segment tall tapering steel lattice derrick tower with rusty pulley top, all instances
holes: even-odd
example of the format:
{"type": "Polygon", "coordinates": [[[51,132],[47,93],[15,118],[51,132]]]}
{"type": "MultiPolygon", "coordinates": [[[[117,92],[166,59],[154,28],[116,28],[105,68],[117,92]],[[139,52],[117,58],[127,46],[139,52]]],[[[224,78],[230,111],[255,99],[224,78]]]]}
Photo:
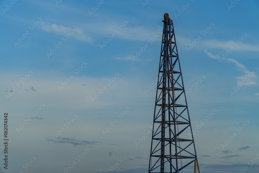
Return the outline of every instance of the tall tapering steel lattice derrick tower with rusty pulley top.
{"type": "Polygon", "coordinates": [[[148,172],[196,172],[197,155],[174,26],[168,13],[164,14],[163,23],[148,172]]]}

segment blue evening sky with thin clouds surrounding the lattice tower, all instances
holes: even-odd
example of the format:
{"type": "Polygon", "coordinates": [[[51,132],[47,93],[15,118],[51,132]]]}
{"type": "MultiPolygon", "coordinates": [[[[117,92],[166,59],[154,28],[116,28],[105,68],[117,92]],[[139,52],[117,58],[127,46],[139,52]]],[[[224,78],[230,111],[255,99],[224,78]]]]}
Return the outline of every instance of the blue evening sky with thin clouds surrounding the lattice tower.
{"type": "Polygon", "coordinates": [[[209,163],[202,172],[259,171],[259,1],[58,2],[0,1],[0,107],[9,114],[9,164],[0,172],[64,172],[73,161],[71,173],[111,172],[117,163],[113,172],[147,172],[151,135],[135,142],[153,123],[156,87],[148,86],[158,75],[164,13],[174,23],[185,90],[193,89],[192,128],[205,123],[194,135],[200,168],[209,163]]]}

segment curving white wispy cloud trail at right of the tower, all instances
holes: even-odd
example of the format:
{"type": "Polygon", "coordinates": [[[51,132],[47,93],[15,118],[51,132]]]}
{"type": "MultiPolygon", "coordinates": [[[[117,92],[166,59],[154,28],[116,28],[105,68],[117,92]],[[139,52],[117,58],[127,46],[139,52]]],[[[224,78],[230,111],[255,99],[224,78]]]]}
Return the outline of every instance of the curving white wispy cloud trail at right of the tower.
{"type": "MultiPolygon", "coordinates": [[[[204,52],[207,54],[208,57],[213,58],[215,60],[218,60],[220,58],[219,55],[212,54],[211,52],[208,52],[207,50],[204,50],[204,52]]],[[[238,84],[242,83],[242,81],[246,81],[246,83],[244,84],[246,86],[258,85],[258,82],[257,82],[258,81],[258,77],[257,77],[257,75],[255,73],[247,70],[246,66],[244,66],[241,63],[239,63],[237,60],[235,60],[233,58],[228,58],[227,61],[233,62],[235,64],[235,66],[237,67],[237,70],[241,71],[243,73],[243,75],[236,77],[236,79],[238,80],[237,81],[238,84]],[[251,74],[254,74],[254,75],[251,75],[251,74]],[[249,80],[248,80],[247,76],[249,77],[249,80]]]]}

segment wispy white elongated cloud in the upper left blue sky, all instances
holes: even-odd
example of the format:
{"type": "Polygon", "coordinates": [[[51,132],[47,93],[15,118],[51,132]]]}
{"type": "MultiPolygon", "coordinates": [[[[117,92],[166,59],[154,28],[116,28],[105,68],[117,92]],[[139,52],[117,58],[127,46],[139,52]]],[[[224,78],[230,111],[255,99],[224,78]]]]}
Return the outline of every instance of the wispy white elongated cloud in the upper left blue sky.
{"type": "Polygon", "coordinates": [[[84,33],[84,31],[79,27],[71,28],[71,27],[67,27],[67,26],[63,26],[63,25],[57,25],[57,24],[47,25],[47,24],[43,23],[41,29],[43,31],[53,32],[53,33],[58,34],[58,35],[68,34],[71,29],[74,29],[75,33],[71,34],[71,37],[73,37],[77,40],[92,43],[91,37],[88,34],[84,33]]]}

